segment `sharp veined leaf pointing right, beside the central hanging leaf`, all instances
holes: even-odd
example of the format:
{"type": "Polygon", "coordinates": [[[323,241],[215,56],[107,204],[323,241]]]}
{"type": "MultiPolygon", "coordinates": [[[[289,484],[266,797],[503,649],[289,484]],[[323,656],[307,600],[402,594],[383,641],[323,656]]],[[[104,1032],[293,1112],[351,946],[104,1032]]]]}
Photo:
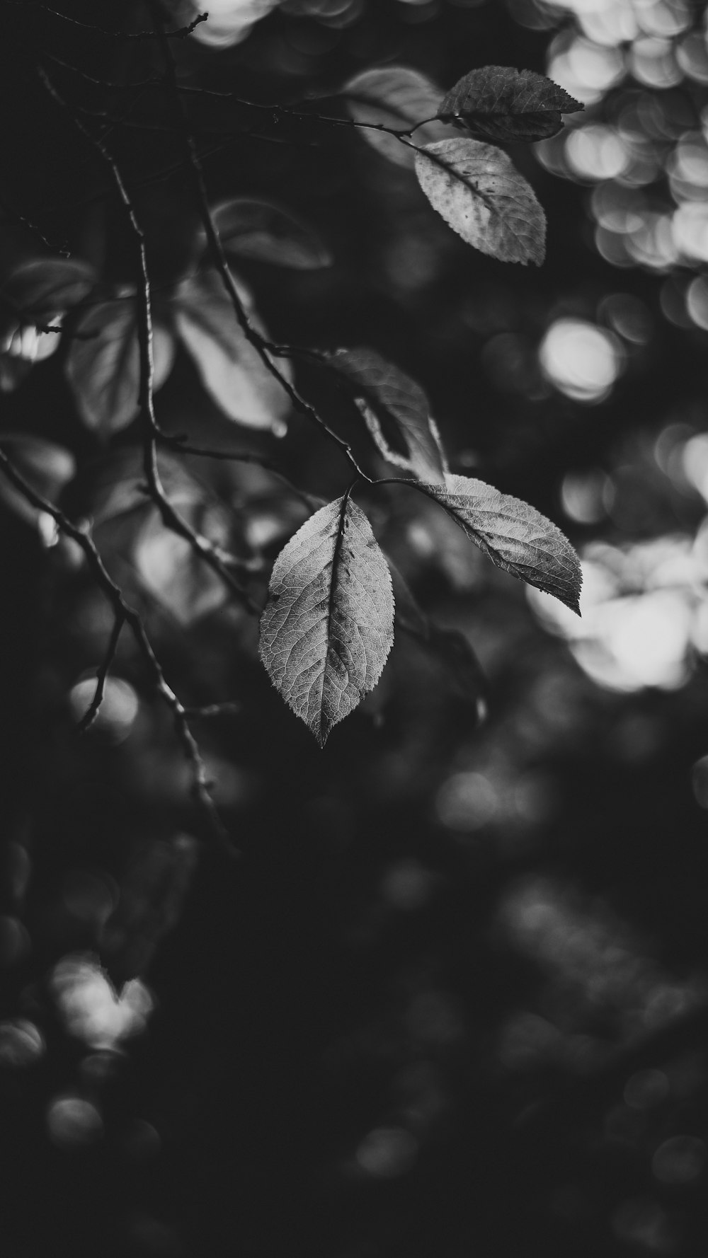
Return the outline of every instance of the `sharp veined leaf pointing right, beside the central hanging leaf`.
{"type": "Polygon", "coordinates": [[[430,493],[493,564],[552,594],[580,615],[578,556],[545,516],[528,502],[465,476],[448,473],[445,489],[430,486],[430,493]]]}

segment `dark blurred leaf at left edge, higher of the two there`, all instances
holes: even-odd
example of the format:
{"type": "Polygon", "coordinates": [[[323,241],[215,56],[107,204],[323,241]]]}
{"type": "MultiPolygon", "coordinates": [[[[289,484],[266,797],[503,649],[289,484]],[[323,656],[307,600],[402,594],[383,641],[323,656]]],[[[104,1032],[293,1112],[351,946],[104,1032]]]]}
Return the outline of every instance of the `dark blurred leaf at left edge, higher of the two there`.
{"type": "Polygon", "coordinates": [[[50,323],[54,316],[78,306],[88,296],[96,276],[86,262],[71,258],[35,258],[23,262],[0,288],[0,308],[10,321],[50,323]]]}

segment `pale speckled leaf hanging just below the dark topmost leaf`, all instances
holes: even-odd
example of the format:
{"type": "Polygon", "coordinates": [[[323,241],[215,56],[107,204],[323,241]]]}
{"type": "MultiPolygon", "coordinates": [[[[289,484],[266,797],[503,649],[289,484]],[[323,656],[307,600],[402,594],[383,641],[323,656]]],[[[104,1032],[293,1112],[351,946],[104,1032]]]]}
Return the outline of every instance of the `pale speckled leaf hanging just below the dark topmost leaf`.
{"type": "Polygon", "coordinates": [[[416,153],[416,174],[433,210],[467,244],[500,262],[540,267],[545,215],[500,148],[477,140],[442,140],[416,153]]]}

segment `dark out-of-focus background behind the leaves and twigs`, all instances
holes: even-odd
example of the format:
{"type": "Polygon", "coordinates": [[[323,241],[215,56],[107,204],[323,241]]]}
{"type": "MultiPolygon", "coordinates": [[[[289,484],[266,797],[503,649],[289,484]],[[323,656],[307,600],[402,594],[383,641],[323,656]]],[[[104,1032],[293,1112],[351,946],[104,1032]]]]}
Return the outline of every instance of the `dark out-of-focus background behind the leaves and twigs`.
{"type": "MultiPolygon", "coordinates": [[[[239,269],[273,337],[370,345],[411,371],[455,470],[532,502],[596,571],[615,572],[624,645],[595,614],[601,595],[588,595],[583,654],[564,620],[552,632],[540,604],[432,508],[360,493],[420,601],[476,649],[489,716],[479,725],[474,696],[399,635],[379,687],[323,752],[270,687],[252,621],[164,538],[159,575],[147,571],[145,521],[107,512],[106,487],[120,501],[137,438],[87,429],[66,345],[0,396],[4,434],[72,452],[62,506],[102,521],[97,542],[183,699],[241,704],[199,727],[242,853],[233,863],[189,801],[169,713],[127,635],[115,665],[123,691],[76,735],[74,687],[100,664],[110,618],[72,546],[43,545],[37,518],[5,503],[0,1184],[11,1258],[705,1253],[708,250],[648,233],[704,203],[708,55],[703,5],[610,10],[625,23],[615,43],[610,28],[605,43],[597,25],[588,34],[592,6],[581,28],[569,4],[532,0],[300,0],[238,43],[193,36],[175,54],[184,83],[297,102],[373,64],[412,65],[447,88],[474,65],[552,73],[576,48],[580,83],[563,86],[582,96],[585,64],[595,99],[572,127],[611,128],[626,160],[617,170],[595,157],[583,174],[563,137],[510,150],[548,216],[540,270],[464,245],[411,172],[354,130],[202,98],[190,108],[212,199],[273,198],[334,254],[325,270],[239,269]],[[602,72],[597,86],[588,47],[601,70],[620,55],[615,82],[602,72]],[[233,130],[207,156],[210,132],[233,130]],[[682,145],[695,150],[690,169],[682,145]],[[610,242],[598,191],[631,201],[634,219],[610,242]],[[617,379],[605,392],[592,365],[580,399],[542,371],[539,346],[559,320],[606,333],[617,379]],[[653,619],[658,589],[669,621],[689,625],[675,658],[670,624],[653,619]],[[72,1015],[67,991],[87,974],[98,985],[72,1015]],[[111,1030],[121,993],[151,1006],[132,1035],[111,1030]]],[[[139,5],[97,14],[67,0],[64,13],[150,29],[139,5]]],[[[190,16],[175,8],[178,23],[190,16]]],[[[106,292],[131,283],[106,171],[35,64],[50,54],[128,83],[159,73],[156,45],[31,4],[1,4],[0,18],[5,273],[54,252],[24,218],[89,260],[106,292]]],[[[178,141],[146,130],[174,122],[169,99],[43,64],[125,174],[159,303],[190,264],[197,224],[178,141]]],[[[317,108],[345,117],[336,99],[317,108]]],[[[306,366],[299,384],[328,404],[306,366]]],[[[321,434],[299,418],[281,442],[234,428],[185,356],[156,403],[165,428],[276,458],[311,493],[346,487],[321,434]]],[[[354,418],[329,404],[372,458],[354,418]]],[[[227,511],[228,545],[262,600],[304,511],[253,469],[190,472],[227,511]]]]}

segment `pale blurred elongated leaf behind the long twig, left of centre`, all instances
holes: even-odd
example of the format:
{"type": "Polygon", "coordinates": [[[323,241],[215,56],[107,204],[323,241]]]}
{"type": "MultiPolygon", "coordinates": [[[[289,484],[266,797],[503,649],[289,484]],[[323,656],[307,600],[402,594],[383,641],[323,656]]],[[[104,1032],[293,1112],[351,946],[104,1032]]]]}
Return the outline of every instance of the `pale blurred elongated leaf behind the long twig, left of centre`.
{"type": "MultiPolygon", "coordinates": [[[[247,308],[248,304],[244,301],[247,308]]],[[[217,406],[246,428],[266,428],[281,437],[290,398],[247,341],[220,276],[205,270],[183,279],[175,291],[173,311],[178,335],[217,406]]],[[[251,309],[248,318],[263,335],[263,326],[251,309]]],[[[292,381],[286,360],[277,361],[277,370],[292,381]]]]}

